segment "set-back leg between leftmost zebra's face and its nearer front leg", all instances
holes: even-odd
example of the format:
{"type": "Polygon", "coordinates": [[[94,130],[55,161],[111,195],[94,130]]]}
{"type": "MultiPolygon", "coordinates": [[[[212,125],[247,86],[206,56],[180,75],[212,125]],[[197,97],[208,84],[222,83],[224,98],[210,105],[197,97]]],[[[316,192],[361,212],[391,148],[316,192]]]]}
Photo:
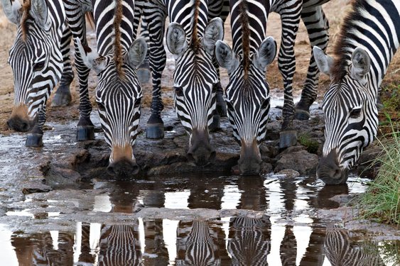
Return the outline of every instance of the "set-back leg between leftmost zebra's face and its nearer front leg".
{"type": "Polygon", "coordinates": [[[64,69],[60,79],[60,85],[55,92],[51,106],[67,106],[71,103],[72,97],[70,92],[70,84],[74,79],[74,72],[70,60],[70,44],[72,33],[69,27],[65,28],[63,38],[61,39],[61,52],[63,53],[64,69]]]}

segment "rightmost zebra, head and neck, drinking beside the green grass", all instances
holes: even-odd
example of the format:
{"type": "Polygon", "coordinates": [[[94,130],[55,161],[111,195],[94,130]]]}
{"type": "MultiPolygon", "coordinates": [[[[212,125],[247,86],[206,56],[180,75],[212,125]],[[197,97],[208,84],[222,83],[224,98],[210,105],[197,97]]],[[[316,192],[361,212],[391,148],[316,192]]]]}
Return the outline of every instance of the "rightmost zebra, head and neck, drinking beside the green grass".
{"type": "Polygon", "coordinates": [[[342,23],[335,58],[313,48],[318,68],[331,79],[323,98],[325,143],[317,167],[325,184],[344,184],[377,135],[378,88],[399,40],[399,1],[356,0],[342,23]]]}

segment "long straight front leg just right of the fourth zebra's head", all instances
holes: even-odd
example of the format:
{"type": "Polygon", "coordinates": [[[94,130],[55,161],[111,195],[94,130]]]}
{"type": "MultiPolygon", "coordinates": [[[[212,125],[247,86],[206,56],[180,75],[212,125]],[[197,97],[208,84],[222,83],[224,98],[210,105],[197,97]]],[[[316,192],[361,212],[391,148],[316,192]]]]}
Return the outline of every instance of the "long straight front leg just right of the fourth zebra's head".
{"type": "Polygon", "coordinates": [[[294,104],[293,104],[293,75],[296,70],[296,58],[294,55],[294,43],[301,17],[302,1],[289,1],[287,6],[279,13],[281,14],[282,38],[281,48],[278,56],[279,71],[283,77],[285,90],[283,104],[283,123],[280,133],[280,148],[286,148],[297,143],[297,133],[291,130],[293,127],[294,104]]]}

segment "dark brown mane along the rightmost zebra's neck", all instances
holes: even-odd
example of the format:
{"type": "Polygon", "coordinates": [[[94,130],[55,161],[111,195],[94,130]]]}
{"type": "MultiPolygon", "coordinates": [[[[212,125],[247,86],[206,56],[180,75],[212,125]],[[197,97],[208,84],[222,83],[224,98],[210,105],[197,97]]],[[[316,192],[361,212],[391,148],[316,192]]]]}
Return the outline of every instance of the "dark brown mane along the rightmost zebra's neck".
{"type": "Polygon", "coordinates": [[[365,0],[353,0],[351,5],[351,11],[347,13],[347,16],[345,16],[345,19],[342,22],[339,38],[333,48],[335,58],[331,75],[333,82],[339,82],[347,73],[346,70],[351,58],[349,48],[352,48],[353,46],[349,35],[352,35],[354,28],[353,22],[362,19],[361,11],[364,9],[365,0]]]}

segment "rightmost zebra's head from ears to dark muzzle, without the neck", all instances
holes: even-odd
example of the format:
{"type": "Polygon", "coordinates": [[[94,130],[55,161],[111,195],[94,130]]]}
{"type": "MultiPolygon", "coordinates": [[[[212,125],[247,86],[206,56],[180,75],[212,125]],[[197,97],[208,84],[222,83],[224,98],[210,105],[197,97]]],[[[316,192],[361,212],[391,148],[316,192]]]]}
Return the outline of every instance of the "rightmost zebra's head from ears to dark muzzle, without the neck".
{"type": "Polygon", "coordinates": [[[377,97],[371,93],[371,60],[367,51],[356,48],[344,73],[333,69],[333,58],[313,48],[318,68],[330,74],[330,88],[323,99],[325,143],[317,176],[326,184],[344,184],[362,150],[377,135],[377,97]]]}

